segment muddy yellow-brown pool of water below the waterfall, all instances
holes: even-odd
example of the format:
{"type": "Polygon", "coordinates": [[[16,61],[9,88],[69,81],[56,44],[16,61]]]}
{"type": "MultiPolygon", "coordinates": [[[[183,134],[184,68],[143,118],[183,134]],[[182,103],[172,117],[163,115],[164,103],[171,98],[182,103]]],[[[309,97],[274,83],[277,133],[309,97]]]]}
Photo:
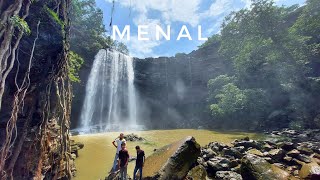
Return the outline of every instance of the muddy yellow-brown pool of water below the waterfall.
{"type": "MultiPolygon", "coordinates": [[[[217,132],[210,130],[175,129],[175,130],[150,130],[131,131],[146,139],[144,142],[128,142],[127,149],[130,156],[136,156],[135,146],[139,145],[149,156],[154,149],[176,142],[187,136],[195,137],[196,141],[204,146],[212,141],[230,144],[234,139],[249,136],[253,139],[261,138],[259,134],[245,132],[217,132]]],[[[79,151],[76,159],[76,180],[104,179],[112,167],[116,148],[111,142],[119,136],[119,132],[73,136],[72,139],[84,143],[84,148],[79,151]]],[[[165,161],[166,159],[163,159],[165,161]]],[[[128,174],[133,175],[135,162],[128,165],[128,174]]],[[[148,172],[146,172],[148,173],[148,172]]]]}

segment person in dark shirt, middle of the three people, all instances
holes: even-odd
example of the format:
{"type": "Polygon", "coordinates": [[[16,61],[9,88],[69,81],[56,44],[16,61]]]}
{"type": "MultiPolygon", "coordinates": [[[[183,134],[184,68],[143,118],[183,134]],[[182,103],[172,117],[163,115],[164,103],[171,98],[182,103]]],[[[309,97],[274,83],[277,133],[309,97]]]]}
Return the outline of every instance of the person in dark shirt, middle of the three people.
{"type": "Polygon", "coordinates": [[[126,149],[126,143],[121,144],[121,150],[119,151],[118,167],[120,169],[120,180],[127,179],[127,168],[129,162],[129,152],[126,149]]]}

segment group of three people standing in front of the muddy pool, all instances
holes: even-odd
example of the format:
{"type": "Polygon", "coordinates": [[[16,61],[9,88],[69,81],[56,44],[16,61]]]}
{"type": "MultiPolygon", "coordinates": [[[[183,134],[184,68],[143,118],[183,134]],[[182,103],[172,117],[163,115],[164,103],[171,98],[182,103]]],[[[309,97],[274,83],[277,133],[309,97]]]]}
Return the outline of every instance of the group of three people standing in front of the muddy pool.
{"type": "MultiPolygon", "coordinates": [[[[115,173],[120,170],[120,179],[127,179],[127,168],[129,162],[129,152],[127,150],[126,140],[124,139],[124,134],[121,133],[120,136],[115,139],[112,144],[117,148],[116,155],[114,157],[112,172],[115,173]]],[[[137,172],[140,173],[140,180],[142,179],[142,169],[145,161],[144,151],[140,148],[140,146],[136,146],[137,158],[136,158],[136,166],[133,171],[133,180],[136,179],[137,172]]]]}

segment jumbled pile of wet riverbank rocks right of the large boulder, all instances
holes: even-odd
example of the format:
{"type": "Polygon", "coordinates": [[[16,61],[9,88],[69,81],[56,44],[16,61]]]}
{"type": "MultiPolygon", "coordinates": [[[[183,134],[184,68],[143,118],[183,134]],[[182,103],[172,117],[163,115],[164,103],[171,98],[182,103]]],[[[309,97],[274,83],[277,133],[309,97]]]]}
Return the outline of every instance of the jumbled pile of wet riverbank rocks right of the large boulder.
{"type": "Polygon", "coordinates": [[[228,177],[221,172],[234,172],[243,179],[317,179],[317,136],[320,130],[284,129],[266,133],[266,140],[244,138],[230,146],[210,142],[202,147],[197,165],[206,169],[209,179],[228,177]]]}

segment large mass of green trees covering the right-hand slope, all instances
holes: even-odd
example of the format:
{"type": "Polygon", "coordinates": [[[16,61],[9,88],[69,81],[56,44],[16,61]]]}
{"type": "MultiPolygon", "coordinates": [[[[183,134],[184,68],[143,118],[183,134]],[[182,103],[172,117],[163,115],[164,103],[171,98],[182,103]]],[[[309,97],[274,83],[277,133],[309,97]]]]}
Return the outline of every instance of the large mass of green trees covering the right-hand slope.
{"type": "Polygon", "coordinates": [[[301,8],[254,0],[225,18],[221,35],[200,46],[219,43],[220,55],[233,65],[232,74],[208,81],[215,121],[261,123],[281,109],[298,128],[319,113],[319,10],[318,0],[301,8]]]}

